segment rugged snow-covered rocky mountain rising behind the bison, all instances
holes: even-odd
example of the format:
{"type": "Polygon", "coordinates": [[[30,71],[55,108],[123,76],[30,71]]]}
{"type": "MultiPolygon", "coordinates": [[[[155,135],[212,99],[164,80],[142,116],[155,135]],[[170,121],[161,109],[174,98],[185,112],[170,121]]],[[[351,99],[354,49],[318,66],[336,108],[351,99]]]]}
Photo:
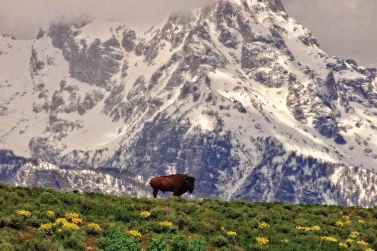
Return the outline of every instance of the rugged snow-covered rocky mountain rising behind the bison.
{"type": "Polygon", "coordinates": [[[376,69],[279,0],[2,34],[0,65],[2,181],[151,196],[188,173],[196,198],[377,205],[376,69]]]}

